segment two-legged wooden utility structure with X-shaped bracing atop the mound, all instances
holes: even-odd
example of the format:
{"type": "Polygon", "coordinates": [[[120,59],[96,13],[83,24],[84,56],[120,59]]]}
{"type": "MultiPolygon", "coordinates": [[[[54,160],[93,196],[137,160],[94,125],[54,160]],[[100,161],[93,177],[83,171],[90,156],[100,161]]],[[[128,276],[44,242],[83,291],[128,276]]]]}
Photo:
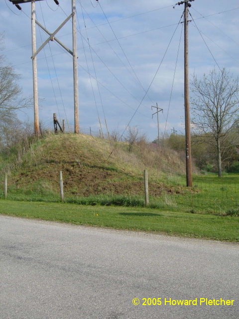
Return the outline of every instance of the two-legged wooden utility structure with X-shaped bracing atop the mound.
{"type": "MultiPolygon", "coordinates": [[[[43,0],[9,0],[12,4],[15,4],[16,7],[21,10],[19,4],[31,2],[31,30],[32,30],[32,72],[33,72],[33,97],[34,97],[34,132],[36,136],[40,135],[39,127],[39,110],[38,110],[38,85],[37,85],[37,54],[44,48],[44,46],[49,42],[55,40],[58,42],[67,52],[73,56],[73,79],[74,79],[74,126],[75,133],[79,134],[79,98],[78,98],[78,67],[77,67],[77,40],[76,40],[76,0],[72,0],[72,12],[71,14],[61,23],[61,25],[54,31],[49,32],[44,26],[42,26],[36,20],[36,9],[35,1],[43,0]],[[72,18],[72,47],[70,50],[66,47],[60,40],[55,37],[55,34],[66,24],[68,20],[72,18]],[[36,24],[42,28],[49,37],[47,40],[36,49],[36,24]]],[[[59,5],[58,0],[54,2],[59,5]]]]}

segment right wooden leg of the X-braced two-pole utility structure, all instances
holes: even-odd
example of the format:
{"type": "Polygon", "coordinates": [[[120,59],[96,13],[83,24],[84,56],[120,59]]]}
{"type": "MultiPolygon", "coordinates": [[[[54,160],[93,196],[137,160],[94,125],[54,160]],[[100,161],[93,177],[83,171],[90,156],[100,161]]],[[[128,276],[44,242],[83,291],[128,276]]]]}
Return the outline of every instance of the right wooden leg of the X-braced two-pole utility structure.
{"type": "Polygon", "coordinates": [[[77,39],[76,39],[76,0],[72,0],[72,35],[73,35],[73,74],[74,74],[74,123],[75,133],[79,134],[79,97],[77,70],[77,39]]]}

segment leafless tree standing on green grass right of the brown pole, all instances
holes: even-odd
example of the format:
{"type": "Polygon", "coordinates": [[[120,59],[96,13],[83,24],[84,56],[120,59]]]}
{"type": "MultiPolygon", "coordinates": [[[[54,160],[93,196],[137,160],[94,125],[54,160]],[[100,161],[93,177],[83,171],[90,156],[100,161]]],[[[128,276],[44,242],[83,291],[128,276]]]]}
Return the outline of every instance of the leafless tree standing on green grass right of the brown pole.
{"type": "Polygon", "coordinates": [[[191,89],[192,123],[199,134],[205,134],[216,147],[218,176],[222,176],[222,141],[238,121],[239,78],[233,78],[224,68],[204,74],[202,79],[193,76],[191,89]]]}

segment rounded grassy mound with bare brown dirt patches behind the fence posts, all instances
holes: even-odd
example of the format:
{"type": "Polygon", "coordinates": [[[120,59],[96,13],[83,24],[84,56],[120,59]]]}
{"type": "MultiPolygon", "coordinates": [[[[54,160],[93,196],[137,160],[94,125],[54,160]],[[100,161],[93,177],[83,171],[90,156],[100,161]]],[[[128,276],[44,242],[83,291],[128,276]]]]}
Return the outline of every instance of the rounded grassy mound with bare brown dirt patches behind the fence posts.
{"type": "Polygon", "coordinates": [[[86,135],[48,135],[8,163],[8,185],[14,193],[50,196],[58,193],[62,170],[68,196],[143,195],[145,168],[151,195],[182,191],[180,186],[163,182],[170,172],[184,173],[184,163],[174,151],[141,141],[129,152],[122,142],[115,145],[86,135]]]}

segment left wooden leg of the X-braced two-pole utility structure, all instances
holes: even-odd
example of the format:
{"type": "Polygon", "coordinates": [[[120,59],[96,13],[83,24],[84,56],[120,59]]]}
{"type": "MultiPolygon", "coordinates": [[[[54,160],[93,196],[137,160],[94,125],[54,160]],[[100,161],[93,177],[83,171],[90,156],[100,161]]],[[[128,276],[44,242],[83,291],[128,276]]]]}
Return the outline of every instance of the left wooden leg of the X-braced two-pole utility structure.
{"type": "MultiPolygon", "coordinates": [[[[36,52],[36,23],[35,23],[35,20],[36,20],[35,0],[32,0],[31,1],[32,56],[36,52]]],[[[34,98],[34,133],[36,136],[39,136],[40,135],[40,128],[39,128],[36,56],[34,58],[32,58],[32,72],[33,72],[33,98],[34,98]]]]}

